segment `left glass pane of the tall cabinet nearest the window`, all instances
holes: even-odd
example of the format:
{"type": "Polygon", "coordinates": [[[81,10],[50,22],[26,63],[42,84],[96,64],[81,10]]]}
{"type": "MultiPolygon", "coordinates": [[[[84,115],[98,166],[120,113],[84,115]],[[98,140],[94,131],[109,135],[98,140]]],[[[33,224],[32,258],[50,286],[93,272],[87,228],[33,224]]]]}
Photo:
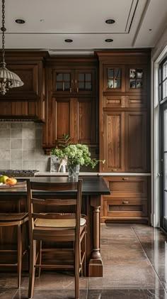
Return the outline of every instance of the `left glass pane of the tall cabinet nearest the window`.
{"type": "Polygon", "coordinates": [[[108,86],[109,89],[121,88],[121,69],[108,68],[108,86]]]}

